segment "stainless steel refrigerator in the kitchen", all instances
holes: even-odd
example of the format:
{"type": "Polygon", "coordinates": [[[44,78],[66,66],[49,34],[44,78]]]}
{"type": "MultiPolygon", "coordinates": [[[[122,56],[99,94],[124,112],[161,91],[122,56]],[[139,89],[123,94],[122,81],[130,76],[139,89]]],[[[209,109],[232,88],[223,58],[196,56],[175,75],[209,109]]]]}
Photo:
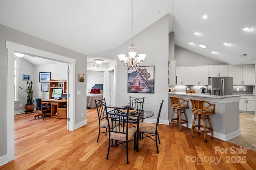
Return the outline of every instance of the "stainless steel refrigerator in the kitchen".
{"type": "Polygon", "coordinates": [[[233,77],[209,77],[207,93],[217,96],[233,94],[233,77]]]}

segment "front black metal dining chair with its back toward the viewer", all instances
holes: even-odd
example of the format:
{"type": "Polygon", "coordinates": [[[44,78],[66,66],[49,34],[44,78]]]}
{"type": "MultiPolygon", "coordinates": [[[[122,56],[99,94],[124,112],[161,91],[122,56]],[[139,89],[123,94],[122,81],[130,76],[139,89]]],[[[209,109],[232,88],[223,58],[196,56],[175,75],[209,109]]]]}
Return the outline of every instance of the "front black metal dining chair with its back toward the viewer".
{"type": "Polygon", "coordinates": [[[108,154],[106,159],[108,159],[110,147],[123,145],[126,149],[126,160],[128,160],[128,142],[134,141],[134,149],[136,149],[136,129],[128,127],[129,121],[129,108],[127,111],[121,111],[122,107],[108,107],[105,105],[107,121],[108,121],[108,154]],[[110,127],[110,125],[116,124],[120,126],[110,127]],[[113,143],[114,141],[114,143],[113,143]]]}

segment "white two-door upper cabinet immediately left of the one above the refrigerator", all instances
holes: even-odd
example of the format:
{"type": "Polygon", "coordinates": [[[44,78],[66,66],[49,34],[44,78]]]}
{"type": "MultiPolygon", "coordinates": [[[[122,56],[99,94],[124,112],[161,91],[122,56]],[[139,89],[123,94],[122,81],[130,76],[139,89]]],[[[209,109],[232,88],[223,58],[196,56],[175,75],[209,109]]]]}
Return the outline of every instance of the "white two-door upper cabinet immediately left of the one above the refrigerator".
{"type": "Polygon", "coordinates": [[[190,67],[190,85],[208,85],[208,66],[190,67]]]}

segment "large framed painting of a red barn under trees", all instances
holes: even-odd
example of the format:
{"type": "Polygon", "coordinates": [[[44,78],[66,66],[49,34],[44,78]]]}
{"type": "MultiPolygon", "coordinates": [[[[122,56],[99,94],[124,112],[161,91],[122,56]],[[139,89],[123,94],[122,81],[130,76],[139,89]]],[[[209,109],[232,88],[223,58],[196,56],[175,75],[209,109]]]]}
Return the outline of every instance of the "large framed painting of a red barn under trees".
{"type": "Polygon", "coordinates": [[[128,93],[154,93],[155,66],[128,70],[128,93]]]}

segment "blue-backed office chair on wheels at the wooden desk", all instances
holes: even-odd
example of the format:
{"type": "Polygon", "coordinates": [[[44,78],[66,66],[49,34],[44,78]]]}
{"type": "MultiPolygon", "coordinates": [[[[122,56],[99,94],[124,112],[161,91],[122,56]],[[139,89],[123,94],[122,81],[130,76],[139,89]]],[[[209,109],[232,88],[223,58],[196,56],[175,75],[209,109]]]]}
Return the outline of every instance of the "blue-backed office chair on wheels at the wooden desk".
{"type": "Polygon", "coordinates": [[[42,116],[42,119],[44,119],[45,115],[51,115],[51,113],[46,113],[47,111],[51,110],[50,102],[42,102],[42,99],[40,99],[40,98],[35,98],[34,100],[35,100],[36,110],[41,111],[41,113],[34,115],[34,119],[36,119],[36,117],[39,118],[39,116],[42,116]]]}

